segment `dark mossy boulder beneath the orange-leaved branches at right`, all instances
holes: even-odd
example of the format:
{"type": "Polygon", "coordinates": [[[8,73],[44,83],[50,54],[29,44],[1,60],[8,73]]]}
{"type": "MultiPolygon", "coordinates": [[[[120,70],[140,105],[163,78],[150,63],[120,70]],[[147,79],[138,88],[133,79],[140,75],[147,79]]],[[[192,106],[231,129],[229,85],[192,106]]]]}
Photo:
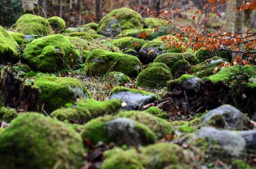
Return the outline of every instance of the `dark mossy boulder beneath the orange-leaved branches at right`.
{"type": "Polygon", "coordinates": [[[227,61],[231,61],[232,55],[229,51],[224,50],[214,50],[212,53],[209,49],[203,50],[202,48],[196,51],[196,57],[199,62],[204,62],[205,60],[211,59],[214,56],[221,57],[222,59],[226,59],[227,61]]]}

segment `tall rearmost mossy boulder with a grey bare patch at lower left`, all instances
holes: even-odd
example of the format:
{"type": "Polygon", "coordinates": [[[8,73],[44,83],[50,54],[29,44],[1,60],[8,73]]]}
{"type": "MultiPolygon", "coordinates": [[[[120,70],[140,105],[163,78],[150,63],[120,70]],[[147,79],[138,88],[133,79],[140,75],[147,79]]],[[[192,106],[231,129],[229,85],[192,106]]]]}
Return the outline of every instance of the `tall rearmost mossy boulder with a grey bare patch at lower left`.
{"type": "Polygon", "coordinates": [[[123,30],[141,30],[143,20],[140,14],[129,8],[115,9],[104,16],[98,24],[97,32],[106,37],[115,37],[123,30]]]}

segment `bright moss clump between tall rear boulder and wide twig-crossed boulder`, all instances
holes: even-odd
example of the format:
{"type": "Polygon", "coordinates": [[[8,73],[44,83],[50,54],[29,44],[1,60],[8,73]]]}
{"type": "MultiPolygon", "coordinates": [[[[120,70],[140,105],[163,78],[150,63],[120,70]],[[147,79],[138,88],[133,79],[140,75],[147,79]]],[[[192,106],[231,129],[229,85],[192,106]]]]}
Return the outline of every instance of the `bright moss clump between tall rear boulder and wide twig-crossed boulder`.
{"type": "Polygon", "coordinates": [[[146,41],[143,39],[133,37],[124,37],[120,39],[111,40],[111,43],[121,50],[133,49],[139,51],[141,49],[141,46],[145,44],[146,41]]]}

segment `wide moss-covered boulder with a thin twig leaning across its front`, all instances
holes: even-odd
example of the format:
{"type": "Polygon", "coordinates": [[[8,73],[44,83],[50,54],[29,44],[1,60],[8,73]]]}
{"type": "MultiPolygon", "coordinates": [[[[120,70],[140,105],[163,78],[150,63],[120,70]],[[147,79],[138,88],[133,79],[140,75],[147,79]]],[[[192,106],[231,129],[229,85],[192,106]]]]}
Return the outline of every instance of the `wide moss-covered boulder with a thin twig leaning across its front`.
{"type": "Polygon", "coordinates": [[[129,77],[136,76],[141,71],[141,62],[136,56],[93,50],[85,62],[86,74],[100,75],[110,71],[122,72],[129,77]]]}

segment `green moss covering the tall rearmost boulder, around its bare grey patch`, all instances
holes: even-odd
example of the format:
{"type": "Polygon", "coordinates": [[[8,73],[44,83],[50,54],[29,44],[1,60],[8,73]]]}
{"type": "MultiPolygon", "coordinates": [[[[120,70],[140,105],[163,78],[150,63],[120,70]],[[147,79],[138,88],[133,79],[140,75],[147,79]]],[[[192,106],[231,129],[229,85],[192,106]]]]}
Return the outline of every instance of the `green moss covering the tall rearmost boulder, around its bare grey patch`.
{"type": "Polygon", "coordinates": [[[115,9],[111,11],[108,15],[104,16],[102,20],[99,21],[97,32],[105,30],[106,27],[109,25],[109,22],[113,19],[117,20],[118,25],[120,25],[121,31],[129,30],[131,28],[141,30],[143,28],[143,20],[140,14],[129,8],[121,8],[115,9]],[[118,18],[116,18],[116,16],[118,16],[118,18]]]}

